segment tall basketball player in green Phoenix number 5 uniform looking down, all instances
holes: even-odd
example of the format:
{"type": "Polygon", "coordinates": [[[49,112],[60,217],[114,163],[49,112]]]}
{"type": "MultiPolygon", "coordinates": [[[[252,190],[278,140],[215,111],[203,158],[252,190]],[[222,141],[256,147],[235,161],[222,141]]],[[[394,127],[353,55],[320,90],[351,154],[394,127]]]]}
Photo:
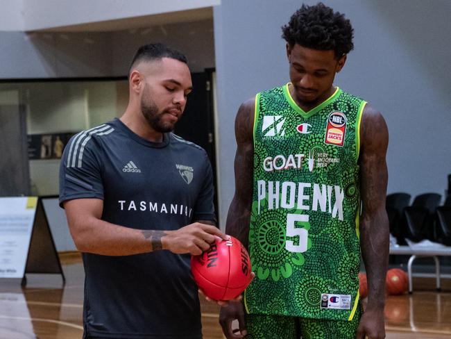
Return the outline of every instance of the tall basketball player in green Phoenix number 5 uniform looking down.
{"type": "Polygon", "coordinates": [[[348,19],[318,3],[282,30],[290,82],[237,113],[226,232],[248,245],[256,276],[243,303],[221,309],[221,326],[227,338],[384,338],[386,124],[334,85],[353,48],[348,19]]]}

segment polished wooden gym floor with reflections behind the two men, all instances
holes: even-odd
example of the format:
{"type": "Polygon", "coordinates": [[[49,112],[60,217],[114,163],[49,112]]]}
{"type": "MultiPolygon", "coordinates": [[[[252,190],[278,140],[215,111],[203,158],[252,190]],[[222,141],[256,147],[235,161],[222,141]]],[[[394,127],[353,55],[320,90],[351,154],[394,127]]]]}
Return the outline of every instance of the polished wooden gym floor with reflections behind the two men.
{"type": "MultiPolygon", "coordinates": [[[[0,339],[80,339],[83,333],[83,265],[78,254],[63,254],[67,283],[56,274],[28,274],[19,283],[0,281],[0,339]]],[[[434,279],[414,279],[414,294],[388,297],[386,338],[451,338],[451,280],[442,279],[442,292],[434,292],[434,279]]],[[[219,307],[201,298],[203,336],[222,339],[219,307]]]]}

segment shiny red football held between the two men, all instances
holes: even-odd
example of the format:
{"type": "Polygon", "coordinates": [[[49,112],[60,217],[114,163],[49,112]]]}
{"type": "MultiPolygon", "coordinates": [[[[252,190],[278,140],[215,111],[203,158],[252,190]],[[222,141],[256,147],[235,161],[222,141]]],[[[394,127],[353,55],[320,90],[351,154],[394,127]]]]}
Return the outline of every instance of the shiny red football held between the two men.
{"type": "Polygon", "coordinates": [[[238,297],[252,280],[248,251],[233,237],[218,238],[208,251],[192,256],[191,272],[198,287],[213,300],[238,297]]]}

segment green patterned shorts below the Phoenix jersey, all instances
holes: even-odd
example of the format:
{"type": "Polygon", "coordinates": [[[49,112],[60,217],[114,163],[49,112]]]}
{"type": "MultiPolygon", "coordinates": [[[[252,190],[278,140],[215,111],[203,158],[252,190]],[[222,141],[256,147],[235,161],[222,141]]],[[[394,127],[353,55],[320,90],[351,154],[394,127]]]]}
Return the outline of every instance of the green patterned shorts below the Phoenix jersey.
{"type": "Polygon", "coordinates": [[[355,339],[360,317],[360,304],[351,321],[248,314],[246,339],[355,339]]]}

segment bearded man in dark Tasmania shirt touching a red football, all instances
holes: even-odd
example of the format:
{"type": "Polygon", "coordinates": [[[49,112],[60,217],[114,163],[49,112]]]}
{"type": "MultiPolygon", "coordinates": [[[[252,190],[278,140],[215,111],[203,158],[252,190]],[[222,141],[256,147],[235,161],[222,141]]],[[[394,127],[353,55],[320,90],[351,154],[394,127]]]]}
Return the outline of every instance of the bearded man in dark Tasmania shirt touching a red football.
{"type": "Polygon", "coordinates": [[[187,60],[140,47],[124,115],[74,135],[60,205],[83,253],[83,338],[201,338],[189,254],[215,236],[213,179],[201,147],[170,133],[192,91],[187,60]]]}

